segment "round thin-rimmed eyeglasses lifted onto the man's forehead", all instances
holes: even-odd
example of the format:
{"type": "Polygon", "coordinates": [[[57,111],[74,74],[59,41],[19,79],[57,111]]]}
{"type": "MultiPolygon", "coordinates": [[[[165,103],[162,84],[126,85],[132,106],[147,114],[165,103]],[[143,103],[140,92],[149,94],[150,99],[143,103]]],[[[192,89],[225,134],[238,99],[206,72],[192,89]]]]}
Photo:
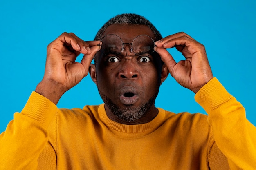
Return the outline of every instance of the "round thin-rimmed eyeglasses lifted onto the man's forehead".
{"type": "Polygon", "coordinates": [[[101,39],[101,52],[108,56],[114,57],[124,51],[124,45],[131,45],[130,52],[140,57],[147,57],[155,51],[155,41],[148,35],[139,35],[131,43],[124,43],[122,39],[114,34],[109,34],[101,39]]]}

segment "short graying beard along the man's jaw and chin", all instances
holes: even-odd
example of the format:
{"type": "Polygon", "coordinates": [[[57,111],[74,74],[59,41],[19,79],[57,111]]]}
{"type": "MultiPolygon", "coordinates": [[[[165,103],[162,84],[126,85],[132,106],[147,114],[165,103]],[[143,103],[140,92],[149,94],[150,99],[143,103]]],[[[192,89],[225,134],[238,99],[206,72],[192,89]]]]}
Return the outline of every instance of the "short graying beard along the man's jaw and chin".
{"type": "Polygon", "coordinates": [[[120,108],[117,106],[110,98],[106,95],[100,93],[102,100],[108,109],[117,116],[120,120],[131,122],[140,119],[146,112],[150,109],[150,107],[154,104],[157,94],[151,97],[146,103],[141,104],[139,107],[135,106],[126,106],[124,108],[120,108]]]}

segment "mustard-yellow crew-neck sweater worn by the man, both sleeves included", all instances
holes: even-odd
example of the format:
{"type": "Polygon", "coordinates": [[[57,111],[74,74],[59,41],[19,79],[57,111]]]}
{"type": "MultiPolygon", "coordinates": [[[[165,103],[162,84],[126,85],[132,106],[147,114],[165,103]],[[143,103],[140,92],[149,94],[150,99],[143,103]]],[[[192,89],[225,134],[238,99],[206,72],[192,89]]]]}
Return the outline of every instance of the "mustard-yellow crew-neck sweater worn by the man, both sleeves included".
{"type": "Polygon", "coordinates": [[[124,125],[104,104],[58,109],[33,92],[0,135],[0,170],[256,170],[243,106],[216,78],[195,100],[209,116],[158,108],[151,122],[124,125]]]}

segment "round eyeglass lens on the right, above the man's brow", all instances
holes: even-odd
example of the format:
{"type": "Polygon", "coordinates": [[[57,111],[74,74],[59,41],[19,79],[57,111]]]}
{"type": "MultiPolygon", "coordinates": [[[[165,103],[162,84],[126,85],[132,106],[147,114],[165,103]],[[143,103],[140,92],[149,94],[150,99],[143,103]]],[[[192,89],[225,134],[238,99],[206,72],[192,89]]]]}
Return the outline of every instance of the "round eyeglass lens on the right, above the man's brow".
{"type": "Polygon", "coordinates": [[[153,54],[155,41],[148,35],[139,35],[132,41],[132,51],[141,57],[153,54]]]}

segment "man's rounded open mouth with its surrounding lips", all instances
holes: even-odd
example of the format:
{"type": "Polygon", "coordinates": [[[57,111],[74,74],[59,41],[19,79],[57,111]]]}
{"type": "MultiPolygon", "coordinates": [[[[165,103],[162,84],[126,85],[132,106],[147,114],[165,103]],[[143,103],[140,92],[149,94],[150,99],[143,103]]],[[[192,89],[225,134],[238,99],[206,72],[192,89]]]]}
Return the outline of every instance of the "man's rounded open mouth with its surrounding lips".
{"type": "Polygon", "coordinates": [[[132,105],[137,101],[138,98],[139,95],[134,87],[125,86],[121,88],[120,101],[122,104],[132,105]]]}

